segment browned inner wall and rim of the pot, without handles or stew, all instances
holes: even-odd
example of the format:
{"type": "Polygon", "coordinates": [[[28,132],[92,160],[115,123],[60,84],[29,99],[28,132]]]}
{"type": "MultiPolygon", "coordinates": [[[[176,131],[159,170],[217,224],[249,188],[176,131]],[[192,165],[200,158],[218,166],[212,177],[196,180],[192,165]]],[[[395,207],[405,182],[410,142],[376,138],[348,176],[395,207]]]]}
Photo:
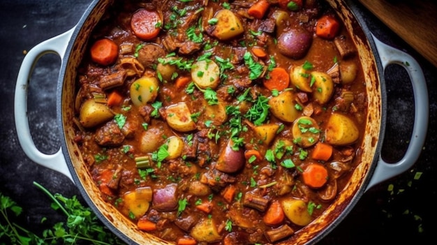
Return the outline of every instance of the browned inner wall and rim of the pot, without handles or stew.
{"type": "MultiPolygon", "coordinates": [[[[311,224],[302,230],[299,235],[294,235],[279,244],[308,244],[317,242],[324,235],[332,230],[341,219],[353,208],[360,198],[373,172],[376,158],[378,158],[378,145],[380,141],[381,121],[383,117],[382,93],[380,87],[380,74],[378,73],[378,62],[376,61],[374,48],[372,48],[370,36],[362,28],[362,23],[358,22],[345,1],[327,0],[336,10],[337,15],[346,25],[353,42],[357,47],[358,55],[362,62],[364,78],[367,90],[368,113],[366,116],[366,129],[364,140],[360,147],[362,151],[362,161],[353,171],[349,183],[341,191],[333,205],[319,216],[311,224]]],[[[136,225],[128,221],[112,205],[101,198],[101,192],[94,184],[93,179],[85,165],[82,155],[75,143],[75,94],[76,94],[76,70],[80,64],[87,41],[91,31],[101,19],[105,10],[112,4],[111,0],[94,1],[87,12],[83,15],[68,45],[66,57],[64,57],[59,78],[58,114],[62,128],[61,135],[62,149],[71,170],[75,184],[80,189],[84,199],[91,209],[93,209],[101,221],[112,230],[117,236],[124,239],[129,244],[168,244],[147,232],[140,232],[136,225]]]]}

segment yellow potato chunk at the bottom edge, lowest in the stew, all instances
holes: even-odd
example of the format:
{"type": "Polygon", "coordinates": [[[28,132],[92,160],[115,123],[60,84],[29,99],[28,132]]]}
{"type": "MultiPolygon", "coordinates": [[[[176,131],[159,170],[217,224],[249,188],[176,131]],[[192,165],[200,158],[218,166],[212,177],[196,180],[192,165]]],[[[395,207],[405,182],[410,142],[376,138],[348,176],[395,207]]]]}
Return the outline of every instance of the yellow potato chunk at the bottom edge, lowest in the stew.
{"type": "Polygon", "coordinates": [[[221,239],[216,223],[212,218],[203,218],[199,223],[196,223],[191,228],[190,235],[198,242],[216,242],[221,239]]]}

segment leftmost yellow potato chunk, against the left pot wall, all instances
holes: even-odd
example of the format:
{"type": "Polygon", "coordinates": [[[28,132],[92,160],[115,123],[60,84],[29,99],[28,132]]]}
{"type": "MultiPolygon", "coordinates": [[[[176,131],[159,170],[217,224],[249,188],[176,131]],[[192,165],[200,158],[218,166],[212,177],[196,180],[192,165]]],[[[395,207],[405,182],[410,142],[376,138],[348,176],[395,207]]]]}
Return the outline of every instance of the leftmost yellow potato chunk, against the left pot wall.
{"type": "Polygon", "coordinates": [[[106,104],[96,103],[94,99],[89,99],[82,104],[79,112],[80,124],[85,128],[91,128],[103,124],[114,117],[114,113],[106,104]]]}

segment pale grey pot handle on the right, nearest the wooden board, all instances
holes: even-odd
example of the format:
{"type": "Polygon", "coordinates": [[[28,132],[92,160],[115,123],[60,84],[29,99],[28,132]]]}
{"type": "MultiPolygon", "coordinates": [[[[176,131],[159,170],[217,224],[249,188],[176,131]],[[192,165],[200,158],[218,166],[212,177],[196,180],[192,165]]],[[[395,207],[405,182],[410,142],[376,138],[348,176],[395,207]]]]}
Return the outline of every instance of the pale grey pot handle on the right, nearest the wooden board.
{"type": "Polygon", "coordinates": [[[375,40],[376,49],[378,50],[384,70],[389,64],[398,64],[403,66],[410,76],[414,95],[415,117],[410,144],[403,158],[397,163],[387,163],[379,156],[378,164],[376,165],[375,172],[373,172],[369,184],[366,186],[366,191],[382,181],[400,175],[414,165],[422,153],[422,147],[427,137],[429,119],[427,83],[420,65],[410,54],[406,54],[401,50],[382,43],[373,35],[372,37],[373,40],[375,40]]]}

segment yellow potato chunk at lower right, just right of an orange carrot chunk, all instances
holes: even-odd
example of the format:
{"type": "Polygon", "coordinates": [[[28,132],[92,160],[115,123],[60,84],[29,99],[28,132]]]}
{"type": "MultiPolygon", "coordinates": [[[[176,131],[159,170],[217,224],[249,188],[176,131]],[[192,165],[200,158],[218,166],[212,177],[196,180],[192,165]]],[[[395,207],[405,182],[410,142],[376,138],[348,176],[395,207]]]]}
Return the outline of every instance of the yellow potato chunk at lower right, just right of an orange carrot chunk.
{"type": "Polygon", "coordinates": [[[287,218],[296,225],[308,225],[312,217],[308,212],[308,207],[303,200],[288,198],[281,201],[281,205],[287,218]]]}

